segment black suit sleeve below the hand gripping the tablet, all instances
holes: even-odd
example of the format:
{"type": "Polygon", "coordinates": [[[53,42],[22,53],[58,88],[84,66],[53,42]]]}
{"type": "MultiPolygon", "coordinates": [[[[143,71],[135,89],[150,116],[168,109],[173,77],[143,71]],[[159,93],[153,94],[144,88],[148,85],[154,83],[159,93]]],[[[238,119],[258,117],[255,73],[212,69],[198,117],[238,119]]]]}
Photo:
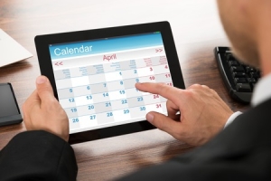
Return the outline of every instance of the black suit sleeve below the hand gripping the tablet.
{"type": "Polygon", "coordinates": [[[16,135],[0,152],[1,180],[76,180],[73,149],[46,131],[16,135]]]}

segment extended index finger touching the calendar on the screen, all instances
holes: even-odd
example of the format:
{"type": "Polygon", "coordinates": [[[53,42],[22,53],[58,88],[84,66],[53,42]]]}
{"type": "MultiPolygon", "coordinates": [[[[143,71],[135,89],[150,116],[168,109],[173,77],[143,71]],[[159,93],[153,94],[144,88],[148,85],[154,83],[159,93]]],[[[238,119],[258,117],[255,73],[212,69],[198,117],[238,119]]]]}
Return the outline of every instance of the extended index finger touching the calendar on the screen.
{"type": "Polygon", "coordinates": [[[177,100],[176,99],[177,95],[178,100],[182,99],[180,96],[182,96],[183,90],[166,85],[164,83],[151,83],[151,82],[135,83],[135,88],[137,90],[146,91],[153,94],[159,94],[168,100],[172,100],[173,102],[177,100]]]}

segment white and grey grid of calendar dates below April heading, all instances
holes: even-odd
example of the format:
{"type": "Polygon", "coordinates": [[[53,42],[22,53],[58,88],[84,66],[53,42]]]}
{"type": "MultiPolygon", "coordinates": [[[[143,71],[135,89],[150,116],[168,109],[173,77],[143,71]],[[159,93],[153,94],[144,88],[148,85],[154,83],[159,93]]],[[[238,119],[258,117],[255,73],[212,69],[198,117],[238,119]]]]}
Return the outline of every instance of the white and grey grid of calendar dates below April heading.
{"type": "Polygon", "coordinates": [[[139,81],[172,85],[166,58],[145,58],[137,64],[140,68],[135,60],[128,60],[56,71],[59,99],[70,130],[145,118],[150,110],[166,113],[166,99],[135,89],[139,81]]]}

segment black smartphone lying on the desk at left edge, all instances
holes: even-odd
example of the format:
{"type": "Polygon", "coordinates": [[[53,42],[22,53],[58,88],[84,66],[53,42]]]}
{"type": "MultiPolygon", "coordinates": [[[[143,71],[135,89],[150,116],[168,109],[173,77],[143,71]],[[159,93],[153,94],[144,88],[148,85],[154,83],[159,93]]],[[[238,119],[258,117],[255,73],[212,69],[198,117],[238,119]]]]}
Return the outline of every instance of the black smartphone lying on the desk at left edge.
{"type": "Polygon", "coordinates": [[[0,126],[23,121],[11,83],[0,83],[0,126]]]}

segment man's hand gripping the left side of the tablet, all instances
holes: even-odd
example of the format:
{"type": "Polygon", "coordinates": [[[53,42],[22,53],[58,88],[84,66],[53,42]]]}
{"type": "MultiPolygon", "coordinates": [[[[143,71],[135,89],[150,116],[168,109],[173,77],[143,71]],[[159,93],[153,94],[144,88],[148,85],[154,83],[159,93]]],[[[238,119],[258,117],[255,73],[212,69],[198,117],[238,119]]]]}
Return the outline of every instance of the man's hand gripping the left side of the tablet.
{"type": "Polygon", "coordinates": [[[27,130],[46,130],[69,139],[69,120],[60,103],[53,96],[50,81],[40,76],[37,89],[23,104],[23,121],[27,130]]]}

